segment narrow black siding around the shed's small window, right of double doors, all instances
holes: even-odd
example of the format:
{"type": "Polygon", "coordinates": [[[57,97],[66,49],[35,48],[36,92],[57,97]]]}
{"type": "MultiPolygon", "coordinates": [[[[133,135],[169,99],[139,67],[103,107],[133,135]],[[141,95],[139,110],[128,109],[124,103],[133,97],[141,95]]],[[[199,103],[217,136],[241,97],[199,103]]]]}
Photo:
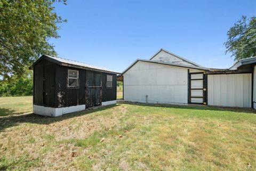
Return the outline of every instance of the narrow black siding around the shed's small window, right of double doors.
{"type": "Polygon", "coordinates": [[[102,72],[102,102],[116,100],[116,75],[102,72]],[[113,76],[112,87],[107,87],[107,75],[113,76]]]}

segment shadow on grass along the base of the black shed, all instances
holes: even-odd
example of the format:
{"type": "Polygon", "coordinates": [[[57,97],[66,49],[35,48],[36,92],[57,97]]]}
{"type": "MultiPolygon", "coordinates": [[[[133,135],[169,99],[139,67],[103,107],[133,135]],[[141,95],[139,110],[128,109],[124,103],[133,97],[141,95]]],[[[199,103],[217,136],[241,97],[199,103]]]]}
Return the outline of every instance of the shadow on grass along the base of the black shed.
{"type": "MultiPolygon", "coordinates": [[[[66,115],[62,115],[59,117],[47,117],[47,116],[36,115],[34,113],[29,113],[26,115],[6,116],[6,117],[0,118],[0,132],[2,132],[6,128],[17,126],[20,123],[48,125],[48,124],[55,123],[55,122],[58,122],[61,120],[75,118],[75,117],[79,117],[79,116],[83,116],[83,115],[88,115],[93,112],[110,109],[110,108],[116,107],[117,105],[119,105],[119,104],[109,105],[107,107],[100,107],[98,109],[93,109],[93,110],[83,110],[83,111],[74,112],[74,113],[67,113],[66,115]]],[[[13,112],[13,111],[10,110],[9,112],[13,112]]]]}

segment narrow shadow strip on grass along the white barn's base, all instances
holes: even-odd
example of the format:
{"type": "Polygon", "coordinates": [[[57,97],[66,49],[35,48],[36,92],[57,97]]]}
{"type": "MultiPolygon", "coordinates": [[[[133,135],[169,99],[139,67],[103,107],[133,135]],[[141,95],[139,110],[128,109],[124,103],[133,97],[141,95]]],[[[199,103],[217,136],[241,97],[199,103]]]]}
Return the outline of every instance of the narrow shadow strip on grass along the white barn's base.
{"type": "Polygon", "coordinates": [[[137,102],[118,102],[119,104],[131,104],[131,105],[140,105],[145,107],[162,107],[162,108],[175,108],[175,109],[193,109],[193,110],[213,110],[213,111],[231,111],[238,113],[254,113],[256,110],[253,108],[238,108],[238,107],[216,107],[210,105],[201,105],[201,104],[188,104],[188,105],[177,105],[177,104],[150,104],[150,103],[137,103],[137,102]]]}

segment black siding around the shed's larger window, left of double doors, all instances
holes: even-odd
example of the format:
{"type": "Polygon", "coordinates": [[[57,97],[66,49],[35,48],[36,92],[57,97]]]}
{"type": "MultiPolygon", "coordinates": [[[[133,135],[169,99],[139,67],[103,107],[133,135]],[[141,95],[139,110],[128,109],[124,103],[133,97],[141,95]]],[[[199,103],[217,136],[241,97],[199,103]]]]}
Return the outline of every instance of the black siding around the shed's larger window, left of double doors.
{"type": "Polygon", "coordinates": [[[55,107],[70,107],[85,104],[85,70],[65,66],[56,67],[56,100],[55,107]],[[78,88],[68,88],[68,69],[78,70],[78,88]]]}

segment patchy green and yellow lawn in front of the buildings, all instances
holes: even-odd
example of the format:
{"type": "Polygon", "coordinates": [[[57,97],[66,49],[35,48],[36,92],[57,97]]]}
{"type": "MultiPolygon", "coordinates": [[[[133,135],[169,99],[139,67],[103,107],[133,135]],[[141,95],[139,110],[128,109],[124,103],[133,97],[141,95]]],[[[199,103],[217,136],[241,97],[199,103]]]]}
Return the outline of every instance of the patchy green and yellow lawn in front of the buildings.
{"type": "Polygon", "coordinates": [[[0,170],[256,170],[252,109],[123,103],[9,115],[0,140],[0,170]]]}

